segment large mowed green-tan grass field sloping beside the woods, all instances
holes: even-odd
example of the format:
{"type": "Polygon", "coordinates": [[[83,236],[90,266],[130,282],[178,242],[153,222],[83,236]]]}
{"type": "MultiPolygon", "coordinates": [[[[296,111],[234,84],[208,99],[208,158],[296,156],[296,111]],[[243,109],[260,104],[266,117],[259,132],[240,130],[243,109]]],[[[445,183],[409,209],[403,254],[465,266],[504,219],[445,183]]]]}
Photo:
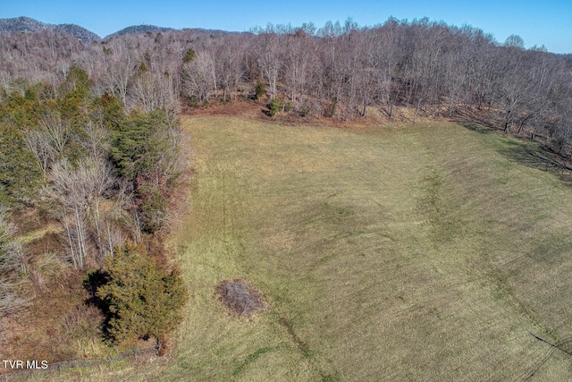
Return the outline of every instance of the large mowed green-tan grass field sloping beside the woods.
{"type": "Polygon", "coordinates": [[[168,363],[104,379],[572,380],[572,187],[533,144],[448,123],[183,123],[185,319],[168,363]],[[214,290],[234,278],[268,309],[229,315],[214,290]]]}

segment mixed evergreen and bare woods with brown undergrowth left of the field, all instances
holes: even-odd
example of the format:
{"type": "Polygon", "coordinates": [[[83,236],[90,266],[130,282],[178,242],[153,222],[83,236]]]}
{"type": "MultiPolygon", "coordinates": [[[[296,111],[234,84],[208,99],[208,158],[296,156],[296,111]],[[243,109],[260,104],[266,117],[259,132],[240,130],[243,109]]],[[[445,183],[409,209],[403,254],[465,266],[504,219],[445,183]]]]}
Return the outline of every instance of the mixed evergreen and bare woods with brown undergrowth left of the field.
{"type": "Polygon", "coordinates": [[[176,111],[127,111],[77,66],[57,86],[10,85],[0,105],[4,358],[105,355],[78,345],[94,335],[160,344],[186,295],[163,242],[185,177],[176,111]]]}

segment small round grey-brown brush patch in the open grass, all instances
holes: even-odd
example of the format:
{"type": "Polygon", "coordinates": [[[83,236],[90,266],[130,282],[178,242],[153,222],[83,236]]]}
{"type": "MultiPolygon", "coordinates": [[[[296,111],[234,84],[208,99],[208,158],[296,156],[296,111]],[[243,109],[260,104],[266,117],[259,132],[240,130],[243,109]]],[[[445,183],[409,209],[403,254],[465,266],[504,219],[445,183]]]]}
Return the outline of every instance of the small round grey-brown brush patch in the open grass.
{"type": "Polygon", "coordinates": [[[216,287],[216,296],[233,315],[250,318],[264,310],[266,302],[262,293],[244,280],[224,280],[216,287]]]}

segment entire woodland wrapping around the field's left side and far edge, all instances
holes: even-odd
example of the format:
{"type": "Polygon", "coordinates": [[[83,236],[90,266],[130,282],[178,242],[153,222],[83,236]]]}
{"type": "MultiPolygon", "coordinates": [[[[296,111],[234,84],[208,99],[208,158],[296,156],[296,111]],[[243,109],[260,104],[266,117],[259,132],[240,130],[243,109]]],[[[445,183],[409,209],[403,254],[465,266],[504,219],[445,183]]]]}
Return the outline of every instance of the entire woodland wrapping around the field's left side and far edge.
{"type": "MultiPolygon", "coordinates": [[[[27,337],[27,346],[61,338],[56,347],[67,350],[42,348],[50,360],[80,356],[68,340],[93,335],[86,322],[99,320],[114,344],[160,339],[174,327],[176,314],[157,315],[185,300],[163,244],[188,171],[183,108],[256,99],[268,115],[308,120],[478,115],[572,157],[570,57],[525,49],[517,36],[498,43],[427,19],[124,32],[87,44],[62,29],[0,34],[0,313],[4,326],[15,325],[8,318],[22,307],[75,296],[80,308],[62,318],[65,330],[27,337]],[[150,299],[143,292],[120,301],[114,283],[129,284],[127,265],[148,281],[135,288],[162,290],[171,302],[141,308],[134,301],[150,299]],[[86,275],[92,305],[78,293],[86,275]],[[64,279],[71,294],[57,287],[64,279]],[[126,324],[123,310],[143,318],[126,324]]],[[[16,343],[6,337],[4,351],[26,349],[16,343]]]]}

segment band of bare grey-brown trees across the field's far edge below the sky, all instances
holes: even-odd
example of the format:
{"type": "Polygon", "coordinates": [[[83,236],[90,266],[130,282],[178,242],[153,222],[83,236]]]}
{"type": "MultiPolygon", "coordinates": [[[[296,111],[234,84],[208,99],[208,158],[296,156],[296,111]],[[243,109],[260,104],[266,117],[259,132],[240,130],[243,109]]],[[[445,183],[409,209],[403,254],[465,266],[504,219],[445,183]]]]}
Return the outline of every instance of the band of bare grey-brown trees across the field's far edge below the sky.
{"type": "Polygon", "coordinates": [[[250,97],[263,84],[269,100],[313,117],[350,120],[377,110],[391,119],[405,106],[415,121],[484,110],[506,132],[572,154],[570,55],[525,49],[514,35],[500,44],[471,26],[426,18],[373,27],[328,21],[319,29],[129,34],[88,46],[44,30],[0,37],[0,52],[4,94],[22,77],[55,85],[72,66],[88,72],[97,96],[146,111],[178,110],[181,97],[193,105],[250,97]]]}

